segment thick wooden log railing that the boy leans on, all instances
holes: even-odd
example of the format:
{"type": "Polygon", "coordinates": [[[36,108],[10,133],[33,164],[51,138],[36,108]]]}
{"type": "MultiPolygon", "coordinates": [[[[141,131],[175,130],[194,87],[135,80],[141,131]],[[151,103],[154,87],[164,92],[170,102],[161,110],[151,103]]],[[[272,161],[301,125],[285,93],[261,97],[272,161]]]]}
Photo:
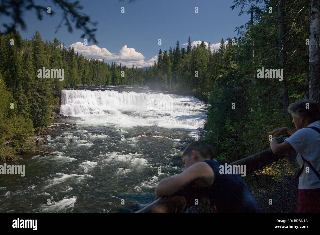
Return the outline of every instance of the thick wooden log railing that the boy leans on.
{"type": "MultiPolygon", "coordinates": [[[[272,150],[269,148],[249,157],[232,162],[230,165],[245,165],[246,174],[250,174],[284,157],[284,155],[277,156],[273,154],[272,150]]],[[[160,198],[136,213],[182,213],[186,211],[187,208],[194,205],[195,198],[200,199],[203,195],[200,187],[195,188],[194,185],[188,185],[178,193],[170,197],[160,198]]]]}

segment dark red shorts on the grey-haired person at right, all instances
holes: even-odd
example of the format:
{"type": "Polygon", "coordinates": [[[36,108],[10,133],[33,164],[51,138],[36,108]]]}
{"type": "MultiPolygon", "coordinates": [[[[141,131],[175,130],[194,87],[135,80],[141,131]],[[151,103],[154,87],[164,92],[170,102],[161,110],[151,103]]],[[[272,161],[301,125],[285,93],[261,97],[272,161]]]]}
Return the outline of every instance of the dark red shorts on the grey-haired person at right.
{"type": "Polygon", "coordinates": [[[299,189],[298,213],[320,213],[320,188],[299,189]]]}

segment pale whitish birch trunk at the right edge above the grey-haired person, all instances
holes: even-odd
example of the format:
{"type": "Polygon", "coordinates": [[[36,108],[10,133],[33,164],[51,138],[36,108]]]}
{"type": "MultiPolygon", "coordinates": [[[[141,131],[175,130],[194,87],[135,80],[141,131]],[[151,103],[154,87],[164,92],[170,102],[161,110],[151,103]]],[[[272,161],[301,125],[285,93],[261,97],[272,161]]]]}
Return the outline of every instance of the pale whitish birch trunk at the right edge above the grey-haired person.
{"type": "Polygon", "coordinates": [[[309,98],[320,105],[320,0],[310,0],[309,98]]]}

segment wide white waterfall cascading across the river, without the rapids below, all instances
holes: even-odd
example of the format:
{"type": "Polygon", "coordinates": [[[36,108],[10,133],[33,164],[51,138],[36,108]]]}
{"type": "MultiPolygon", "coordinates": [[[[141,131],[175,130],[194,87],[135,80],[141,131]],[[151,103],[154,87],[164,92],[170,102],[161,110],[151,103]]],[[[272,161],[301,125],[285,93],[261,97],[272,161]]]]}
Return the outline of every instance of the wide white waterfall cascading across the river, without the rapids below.
{"type": "Polygon", "coordinates": [[[206,118],[193,96],[115,90],[62,90],[60,114],[90,119],[92,125],[196,129],[206,118]]]}

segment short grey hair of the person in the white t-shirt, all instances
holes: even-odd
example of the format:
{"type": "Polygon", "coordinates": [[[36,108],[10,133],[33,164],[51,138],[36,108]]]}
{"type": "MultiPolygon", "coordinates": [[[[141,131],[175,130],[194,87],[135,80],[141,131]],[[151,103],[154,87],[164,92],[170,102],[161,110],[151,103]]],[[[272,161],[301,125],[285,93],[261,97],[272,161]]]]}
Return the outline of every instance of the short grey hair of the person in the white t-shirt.
{"type": "Polygon", "coordinates": [[[309,99],[299,99],[290,104],[288,111],[291,115],[303,115],[307,122],[315,122],[320,120],[320,107],[318,104],[309,99]]]}

